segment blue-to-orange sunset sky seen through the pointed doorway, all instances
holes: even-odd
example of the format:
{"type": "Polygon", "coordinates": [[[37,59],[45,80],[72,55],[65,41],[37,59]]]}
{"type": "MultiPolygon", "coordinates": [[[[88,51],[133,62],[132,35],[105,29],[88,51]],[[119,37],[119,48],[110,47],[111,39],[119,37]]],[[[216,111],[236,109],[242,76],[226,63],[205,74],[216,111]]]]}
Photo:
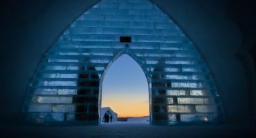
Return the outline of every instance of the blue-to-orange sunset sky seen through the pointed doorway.
{"type": "Polygon", "coordinates": [[[107,71],[102,83],[102,107],[110,107],[118,117],[149,116],[147,79],[129,55],[122,55],[107,71]]]}

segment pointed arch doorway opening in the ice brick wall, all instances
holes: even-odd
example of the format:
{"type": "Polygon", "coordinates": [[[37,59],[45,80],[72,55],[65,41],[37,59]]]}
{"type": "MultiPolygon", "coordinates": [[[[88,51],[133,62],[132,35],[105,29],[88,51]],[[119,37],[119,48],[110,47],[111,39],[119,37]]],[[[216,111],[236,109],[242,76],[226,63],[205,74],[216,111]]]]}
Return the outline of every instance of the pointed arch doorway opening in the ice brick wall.
{"type": "Polygon", "coordinates": [[[100,80],[100,124],[106,123],[104,115],[109,112],[111,123],[149,124],[149,82],[135,59],[128,52],[120,52],[104,72],[100,80]]]}

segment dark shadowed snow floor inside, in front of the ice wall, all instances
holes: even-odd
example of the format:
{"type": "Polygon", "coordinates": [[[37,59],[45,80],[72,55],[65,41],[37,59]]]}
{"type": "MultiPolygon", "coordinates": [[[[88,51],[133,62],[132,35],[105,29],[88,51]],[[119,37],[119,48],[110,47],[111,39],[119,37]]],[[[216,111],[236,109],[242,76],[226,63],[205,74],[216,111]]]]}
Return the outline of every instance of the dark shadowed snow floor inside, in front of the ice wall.
{"type": "Polygon", "coordinates": [[[26,126],[0,124],[1,138],[255,138],[248,126],[231,124],[152,126],[149,124],[105,124],[99,126],[26,126]]]}

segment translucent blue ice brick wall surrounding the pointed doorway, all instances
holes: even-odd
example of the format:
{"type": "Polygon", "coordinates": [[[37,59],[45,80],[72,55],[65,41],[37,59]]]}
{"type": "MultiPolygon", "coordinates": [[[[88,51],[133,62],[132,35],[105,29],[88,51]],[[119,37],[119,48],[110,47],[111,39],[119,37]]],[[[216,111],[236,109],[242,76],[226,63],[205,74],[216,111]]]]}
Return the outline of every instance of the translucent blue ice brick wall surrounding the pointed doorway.
{"type": "Polygon", "coordinates": [[[100,81],[125,53],[149,82],[152,124],[219,121],[221,103],[208,68],[188,37],[148,0],[102,0],[82,14],[35,72],[26,120],[98,124],[100,81]],[[121,36],[131,43],[120,43],[121,36]]]}

